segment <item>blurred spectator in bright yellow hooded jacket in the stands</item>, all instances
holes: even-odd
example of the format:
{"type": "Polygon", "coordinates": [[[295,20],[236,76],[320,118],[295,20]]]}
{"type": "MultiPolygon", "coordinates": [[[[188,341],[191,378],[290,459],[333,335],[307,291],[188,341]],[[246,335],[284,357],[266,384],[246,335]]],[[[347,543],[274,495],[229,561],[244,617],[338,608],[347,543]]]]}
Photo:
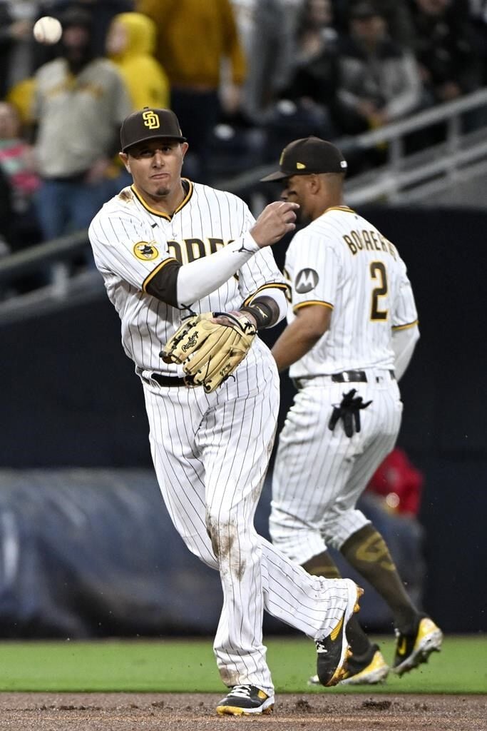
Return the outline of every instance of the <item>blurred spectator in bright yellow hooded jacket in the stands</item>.
{"type": "Polygon", "coordinates": [[[169,107],[169,80],[153,57],[156,23],[140,12],[121,12],[107,33],[107,56],[117,64],[134,110],[169,107]]]}

